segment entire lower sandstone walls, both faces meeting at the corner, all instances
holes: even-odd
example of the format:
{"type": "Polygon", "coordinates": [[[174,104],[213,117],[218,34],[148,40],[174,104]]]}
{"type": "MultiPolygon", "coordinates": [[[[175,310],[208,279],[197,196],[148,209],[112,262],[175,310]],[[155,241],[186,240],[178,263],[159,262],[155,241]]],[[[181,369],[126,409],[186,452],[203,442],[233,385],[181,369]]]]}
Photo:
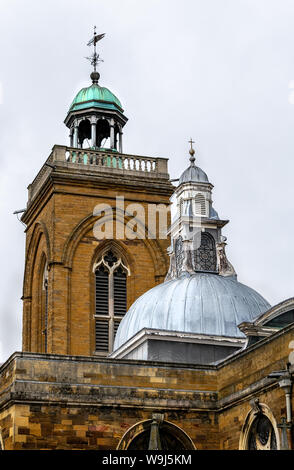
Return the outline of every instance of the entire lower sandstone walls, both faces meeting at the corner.
{"type": "Polygon", "coordinates": [[[268,375],[285,367],[293,333],[286,327],[219,366],[15,353],[0,369],[1,442],[5,449],[142,448],[159,415],[166,445],[233,450],[254,437],[259,448],[291,448],[285,393],[268,375]],[[257,418],[270,429],[258,434],[257,418]]]}

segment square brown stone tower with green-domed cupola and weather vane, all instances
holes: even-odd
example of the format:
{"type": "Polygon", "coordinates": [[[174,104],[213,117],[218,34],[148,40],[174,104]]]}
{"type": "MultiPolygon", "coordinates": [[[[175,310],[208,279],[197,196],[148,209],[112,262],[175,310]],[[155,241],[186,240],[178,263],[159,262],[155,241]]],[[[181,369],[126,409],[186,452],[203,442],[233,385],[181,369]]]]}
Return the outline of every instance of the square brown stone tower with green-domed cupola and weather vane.
{"type": "Polygon", "coordinates": [[[54,145],[28,187],[24,351],[108,355],[127,309],[168,270],[169,241],[147,229],[150,207],[169,208],[167,159],[123,153],[127,118],[96,70],[102,37],[64,121],[69,146],[54,145]]]}

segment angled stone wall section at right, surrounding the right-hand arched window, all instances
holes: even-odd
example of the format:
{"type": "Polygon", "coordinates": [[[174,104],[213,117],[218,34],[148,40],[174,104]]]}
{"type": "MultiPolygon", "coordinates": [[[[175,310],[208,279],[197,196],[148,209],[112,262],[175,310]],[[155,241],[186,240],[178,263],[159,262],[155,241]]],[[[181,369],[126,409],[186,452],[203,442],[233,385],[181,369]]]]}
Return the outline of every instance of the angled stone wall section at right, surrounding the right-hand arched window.
{"type": "Polygon", "coordinates": [[[277,380],[267,376],[286,368],[293,330],[293,325],[289,326],[272,338],[264,339],[238,354],[235,359],[227,359],[220,366],[218,414],[221,449],[239,449],[240,434],[253,398],[258,398],[261,404],[269,407],[276,425],[281,424],[282,418],[286,417],[285,393],[277,380]]]}

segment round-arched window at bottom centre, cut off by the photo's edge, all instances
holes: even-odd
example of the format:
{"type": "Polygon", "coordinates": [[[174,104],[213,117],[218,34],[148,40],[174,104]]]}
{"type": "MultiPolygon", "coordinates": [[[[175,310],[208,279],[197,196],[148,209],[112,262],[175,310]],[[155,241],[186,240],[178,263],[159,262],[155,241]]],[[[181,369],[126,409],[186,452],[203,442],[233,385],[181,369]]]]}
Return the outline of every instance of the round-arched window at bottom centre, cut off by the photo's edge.
{"type": "Polygon", "coordinates": [[[168,421],[149,419],[132,426],[117,450],[196,450],[191,438],[168,421]]]}

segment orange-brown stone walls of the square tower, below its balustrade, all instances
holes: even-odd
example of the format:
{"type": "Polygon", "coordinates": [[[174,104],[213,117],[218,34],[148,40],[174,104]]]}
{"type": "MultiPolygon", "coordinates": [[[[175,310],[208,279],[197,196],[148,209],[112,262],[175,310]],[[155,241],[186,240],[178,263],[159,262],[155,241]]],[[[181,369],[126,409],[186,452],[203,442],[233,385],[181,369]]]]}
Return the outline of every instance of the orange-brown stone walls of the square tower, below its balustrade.
{"type": "MultiPolygon", "coordinates": [[[[61,164],[60,164],[61,165],[61,164]]],[[[131,240],[124,229],[131,217],[116,211],[116,196],[125,207],[140,203],[169,205],[172,185],[166,179],[144,175],[93,175],[89,170],[57,166],[48,174],[30,201],[23,221],[26,231],[26,267],[23,291],[23,350],[45,352],[42,279],[48,264],[47,352],[92,355],[95,352],[93,266],[108,246],[116,250],[130,269],[128,307],[148,289],[164,280],[169,266],[168,239],[155,238],[139,227],[131,240]],[[98,240],[93,215],[97,204],[114,208],[113,240],[98,240]],[[119,239],[117,233],[119,232],[119,239]]],[[[135,214],[134,214],[135,215],[135,214]]],[[[100,217],[104,216],[104,213],[100,217]]],[[[168,221],[169,223],[169,217],[168,221]]],[[[147,225],[147,224],[146,224],[147,225]]]]}

